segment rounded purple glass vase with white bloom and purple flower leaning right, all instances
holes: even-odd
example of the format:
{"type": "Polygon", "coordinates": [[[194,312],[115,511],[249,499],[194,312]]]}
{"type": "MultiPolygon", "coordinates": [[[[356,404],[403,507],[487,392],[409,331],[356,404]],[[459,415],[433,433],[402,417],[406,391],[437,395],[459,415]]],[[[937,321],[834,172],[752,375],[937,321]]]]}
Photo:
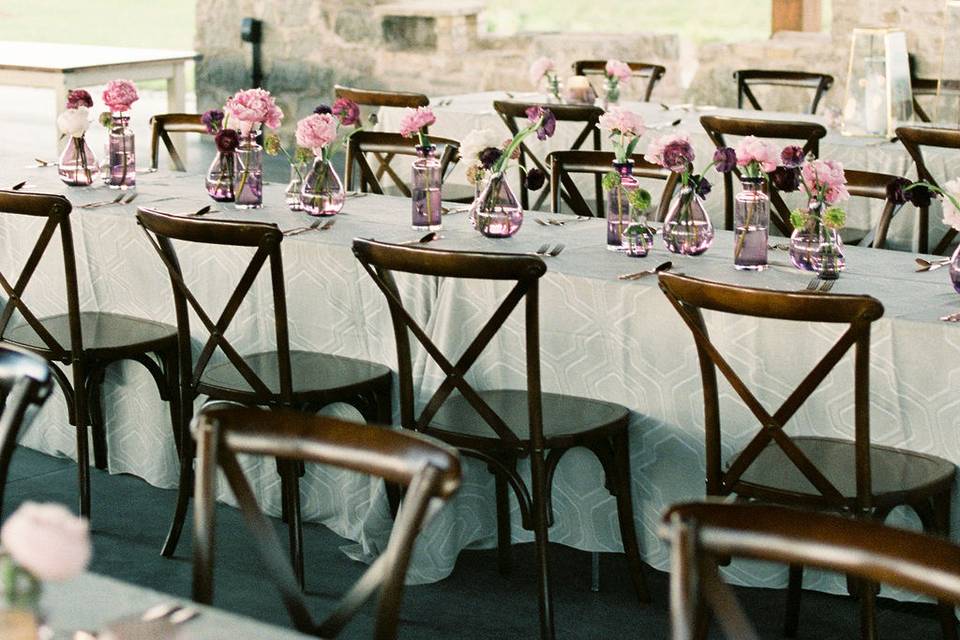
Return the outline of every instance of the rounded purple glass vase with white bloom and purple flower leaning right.
{"type": "MultiPolygon", "coordinates": [[[[487,147],[479,154],[486,180],[480,194],[470,206],[470,222],[489,238],[508,238],[520,230],[523,224],[523,208],[517,202],[506,180],[510,161],[519,158],[520,145],[529,136],[546,140],[557,129],[557,118],[546,107],[534,105],[526,110],[527,126],[517,132],[503,148],[487,147]]],[[[536,191],[546,182],[540,169],[524,171],[524,185],[536,191]]]]}

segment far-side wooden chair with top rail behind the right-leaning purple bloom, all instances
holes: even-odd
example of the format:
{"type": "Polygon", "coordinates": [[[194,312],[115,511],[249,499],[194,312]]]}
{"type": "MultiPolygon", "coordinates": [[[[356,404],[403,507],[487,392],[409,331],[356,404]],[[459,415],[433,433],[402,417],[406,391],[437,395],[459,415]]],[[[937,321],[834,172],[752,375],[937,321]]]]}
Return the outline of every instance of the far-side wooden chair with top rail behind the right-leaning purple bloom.
{"type": "MultiPolygon", "coordinates": [[[[573,144],[570,145],[570,149],[577,150],[581,149],[583,145],[588,141],[593,141],[593,150],[600,151],[602,144],[600,139],[600,129],[597,127],[597,124],[600,122],[600,116],[603,115],[603,109],[600,107],[594,107],[592,105],[571,105],[571,104],[537,104],[537,103],[522,103],[522,102],[508,102],[504,100],[495,100],[493,103],[493,108],[499,114],[500,119],[503,120],[504,124],[507,125],[507,128],[510,130],[510,135],[515,136],[520,132],[522,127],[526,126],[527,121],[527,109],[530,107],[544,107],[553,112],[553,115],[556,116],[557,122],[570,122],[570,123],[581,123],[583,129],[574,139],[573,144]],[[518,121],[521,123],[518,125],[518,121]]],[[[529,138],[528,138],[529,140],[529,138]]],[[[529,164],[533,164],[533,167],[543,171],[544,175],[550,175],[550,168],[547,166],[544,160],[541,160],[537,157],[536,154],[530,151],[530,147],[526,142],[520,144],[520,205],[526,209],[539,209],[543,203],[546,201],[547,197],[550,195],[547,190],[544,190],[540,196],[537,198],[537,201],[530,206],[530,194],[527,189],[526,184],[524,183],[524,171],[530,167],[529,164]]],[[[602,176],[596,176],[594,180],[594,187],[597,193],[598,201],[603,198],[603,185],[601,184],[602,176]]],[[[566,198],[564,198],[566,201],[566,198]]],[[[570,204],[567,202],[567,204],[570,204]]]]}

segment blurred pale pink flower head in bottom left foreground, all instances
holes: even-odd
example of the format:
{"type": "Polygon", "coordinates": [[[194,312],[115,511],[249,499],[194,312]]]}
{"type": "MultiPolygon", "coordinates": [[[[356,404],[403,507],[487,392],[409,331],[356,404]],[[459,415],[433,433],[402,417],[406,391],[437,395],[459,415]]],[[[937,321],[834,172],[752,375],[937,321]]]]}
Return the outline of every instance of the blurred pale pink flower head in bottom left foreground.
{"type": "Polygon", "coordinates": [[[43,582],[74,578],[90,562],[90,527],[59,504],[25,502],[0,529],[14,562],[43,582]]]}

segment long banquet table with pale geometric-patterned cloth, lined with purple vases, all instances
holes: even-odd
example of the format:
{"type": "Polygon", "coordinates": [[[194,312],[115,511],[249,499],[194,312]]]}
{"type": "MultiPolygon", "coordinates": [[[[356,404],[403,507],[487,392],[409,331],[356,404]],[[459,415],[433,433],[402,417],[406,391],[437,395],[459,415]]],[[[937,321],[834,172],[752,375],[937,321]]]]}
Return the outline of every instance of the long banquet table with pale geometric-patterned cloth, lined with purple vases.
{"type": "MultiPolygon", "coordinates": [[[[75,205],[109,198],[105,189],[67,188],[54,169],[26,169],[24,162],[0,161],[8,183],[29,178],[30,191],[64,193],[75,205]]],[[[209,200],[202,177],[157,172],[138,176],[138,199],[129,205],[72,216],[77,247],[80,300],[85,310],[128,313],[173,323],[170,285],[152,248],[137,227],[139,206],[191,212],[209,200]]],[[[283,205],[283,185],[265,187],[263,209],[237,211],[220,206],[211,217],[274,222],[282,229],[302,225],[307,217],[283,205]]],[[[530,218],[511,239],[491,240],[469,228],[464,214],[444,219],[442,239],[431,246],[484,251],[533,251],[545,242],[566,249],[547,258],[548,273],[540,294],[541,360],[545,391],[576,394],[625,404],[633,411],[631,446],[634,501],[641,547],[648,563],[668,566],[668,549],[657,538],[660,514],[671,503],[703,495],[704,454],[702,395],[696,353],[686,327],[653,278],[632,282],[618,274],[672,259],[676,271],[744,286],[797,290],[809,280],[788,265],[782,251],[771,253],[763,273],[743,273],[731,266],[731,235],[719,233],[714,246],[697,258],[668,256],[658,245],[646,259],[606,251],[604,222],[571,219],[565,226],[541,226],[530,218]]],[[[0,270],[19,268],[39,230],[36,220],[0,217],[0,270]]],[[[417,238],[409,226],[407,200],[386,196],[352,197],[329,231],[286,238],[283,257],[294,348],[316,349],[367,358],[395,367],[389,314],[381,294],[355,261],[354,237],[384,241],[417,238]]],[[[217,309],[223,305],[247,256],[238,249],[178,245],[188,282],[217,309]]],[[[915,273],[909,253],[848,248],[848,268],[834,293],[863,293],[880,299],[885,316],[875,324],[871,361],[872,432],[875,442],[934,453],[960,462],[960,327],[940,322],[960,310],[946,269],[915,273]]],[[[261,274],[262,276],[263,274],[261,274]]],[[[54,254],[41,263],[26,301],[40,314],[63,309],[63,274],[54,254]]],[[[499,286],[482,281],[400,280],[415,315],[431,339],[447,350],[465,348],[492,312],[499,286]]],[[[269,280],[261,277],[231,328],[241,352],[272,346],[269,280]]],[[[522,314],[514,314],[473,369],[472,383],[521,386],[524,380],[522,314]]],[[[792,391],[839,335],[838,327],[708,316],[713,338],[731,363],[744,373],[759,398],[776,406],[792,391]]],[[[198,326],[198,325],[194,325],[198,326]]],[[[205,338],[197,334],[197,340],[205,338]]],[[[198,347],[199,348],[199,343],[198,347]]],[[[414,370],[421,401],[441,380],[423,353],[414,370]]],[[[798,412],[788,428],[794,433],[852,437],[852,364],[848,356],[798,412]]],[[[745,444],[755,427],[747,409],[722,388],[725,451],[745,444]]],[[[150,378],[137,365],[108,372],[105,410],[110,445],[110,472],[130,473],[160,487],[176,482],[177,462],[166,407],[150,378]]],[[[340,411],[346,414],[345,410],[340,411]]],[[[75,456],[74,432],[57,394],[38,415],[23,444],[41,451],[75,456]]],[[[272,462],[245,462],[268,512],[279,513],[279,483],[272,462]]],[[[465,482],[452,503],[424,533],[410,569],[414,582],[442,579],[465,548],[495,543],[493,482],[481,464],[467,461],[465,482]]],[[[226,496],[222,496],[226,499],[226,496]]],[[[310,466],[303,484],[304,516],[320,521],[356,541],[346,549],[358,558],[378,552],[389,531],[382,485],[353,474],[310,466]]],[[[586,451],[573,451],[560,464],[553,493],[556,524],[551,539],[583,550],[621,549],[615,503],[603,488],[600,466],[586,451]]],[[[94,494],[93,514],[107,508],[109,496],[94,494]]],[[[907,514],[894,521],[916,525],[907,514]],[[909,522],[908,522],[909,523],[909,522]]],[[[513,537],[530,541],[519,526],[514,505],[513,537]]],[[[960,531],[954,509],[954,530],[960,531]]],[[[159,546],[161,540],[157,539],[159,546]]],[[[309,557],[307,558],[309,567],[309,557]]],[[[309,570],[309,569],[308,569],[309,570]]],[[[736,564],[733,580],[782,583],[782,573],[736,564]]],[[[833,578],[811,575],[807,585],[842,589],[833,578]]]]}

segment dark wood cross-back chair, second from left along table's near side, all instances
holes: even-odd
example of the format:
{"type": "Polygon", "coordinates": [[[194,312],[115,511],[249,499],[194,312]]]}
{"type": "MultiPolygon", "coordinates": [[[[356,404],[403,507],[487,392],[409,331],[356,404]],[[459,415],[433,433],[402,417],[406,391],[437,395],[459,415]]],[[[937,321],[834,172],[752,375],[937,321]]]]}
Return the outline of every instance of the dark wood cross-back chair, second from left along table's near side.
{"type": "MultiPolygon", "coordinates": [[[[137,211],[137,222],[166,266],[173,288],[185,410],[178,423],[183,430],[180,436],[183,442],[191,444],[187,424],[194,400],[201,395],[246,406],[292,407],[313,412],[334,402],[345,402],[356,407],[367,422],[390,422],[390,369],[365,360],[290,349],[280,250],[283,234],[275,224],[184,218],[144,208],[137,211]],[[172,240],[254,250],[249,265],[216,319],[184,281],[172,240]],[[227,330],[265,267],[270,273],[272,289],[275,350],[241,355],[227,339],[227,330]],[[196,361],[191,346],[191,312],[208,335],[196,361]],[[218,348],[226,362],[213,362],[212,357],[218,348]]],[[[181,447],[180,488],[173,523],[163,548],[166,556],[176,551],[186,517],[192,460],[191,447],[181,447]]],[[[302,469],[278,460],[277,471],[281,477],[283,513],[289,524],[294,570],[302,580],[303,531],[299,488],[302,469]]]]}

